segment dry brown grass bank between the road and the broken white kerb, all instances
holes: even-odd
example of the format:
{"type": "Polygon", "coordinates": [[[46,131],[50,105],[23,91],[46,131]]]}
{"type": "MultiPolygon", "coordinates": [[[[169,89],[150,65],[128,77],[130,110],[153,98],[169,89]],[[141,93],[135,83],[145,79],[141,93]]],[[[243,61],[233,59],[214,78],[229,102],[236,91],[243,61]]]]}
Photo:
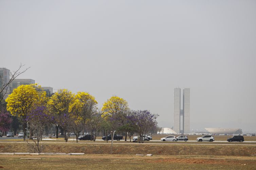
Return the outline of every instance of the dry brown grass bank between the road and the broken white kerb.
{"type": "MultiPolygon", "coordinates": [[[[239,142],[238,142],[239,143],[239,142]]],[[[43,152],[110,154],[111,144],[100,143],[42,143],[43,152]]],[[[28,152],[26,143],[0,143],[0,152],[28,152]]],[[[221,155],[252,156],[256,145],[161,145],[161,144],[114,144],[113,154],[135,155],[221,155]]]]}

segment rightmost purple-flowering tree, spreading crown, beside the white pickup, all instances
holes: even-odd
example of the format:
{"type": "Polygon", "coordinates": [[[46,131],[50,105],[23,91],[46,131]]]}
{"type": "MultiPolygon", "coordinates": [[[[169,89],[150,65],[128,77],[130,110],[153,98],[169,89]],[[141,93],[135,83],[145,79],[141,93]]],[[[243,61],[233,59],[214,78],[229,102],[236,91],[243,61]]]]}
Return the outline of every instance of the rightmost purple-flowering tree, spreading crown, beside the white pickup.
{"type": "Polygon", "coordinates": [[[135,131],[138,133],[140,140],[138,141],[144,143],[142,138],[143,134],[147,134],[150,128],[157,125],[157,117],[159,115],[151,114],[149,111],[132,111],[128,116],[129,122],[135,128],[135,131]]]}

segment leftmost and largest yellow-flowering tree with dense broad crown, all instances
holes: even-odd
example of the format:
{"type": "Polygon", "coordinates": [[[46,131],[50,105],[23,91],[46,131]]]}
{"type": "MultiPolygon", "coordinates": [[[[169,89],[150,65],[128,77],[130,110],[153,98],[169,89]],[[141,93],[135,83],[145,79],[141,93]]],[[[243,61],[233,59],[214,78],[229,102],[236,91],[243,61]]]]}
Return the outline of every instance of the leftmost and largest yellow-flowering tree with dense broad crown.
{"type": "MultiPolygon", "coordinates": [[[[6,110],[13,116],[17,116],[23,123],[23,132],[26,135],[26,118],[28,114],[37,106],[44,105],[47,101],[46,92],[44,92],[40,85],[30,84],[21,85],[13,90],[5,100],[6,110]]],[[[25,135],[23,140],[25,140],[25,135]]]]}

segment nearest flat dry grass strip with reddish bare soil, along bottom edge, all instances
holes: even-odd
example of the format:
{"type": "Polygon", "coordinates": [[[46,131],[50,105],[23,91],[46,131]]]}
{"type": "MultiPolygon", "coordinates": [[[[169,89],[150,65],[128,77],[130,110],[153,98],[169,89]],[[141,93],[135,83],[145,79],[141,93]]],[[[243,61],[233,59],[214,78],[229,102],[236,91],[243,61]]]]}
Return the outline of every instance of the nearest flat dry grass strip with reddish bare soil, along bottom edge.
{"type": "Polygon", "coordinates": [[[10,170],[77,170],[77,169],[255,169],[256,157],[238,156],[134,156],[134,155],[0,155],[0,168],[10,170]],[[41,160],[21,160],[21,158],[41,160]]]}

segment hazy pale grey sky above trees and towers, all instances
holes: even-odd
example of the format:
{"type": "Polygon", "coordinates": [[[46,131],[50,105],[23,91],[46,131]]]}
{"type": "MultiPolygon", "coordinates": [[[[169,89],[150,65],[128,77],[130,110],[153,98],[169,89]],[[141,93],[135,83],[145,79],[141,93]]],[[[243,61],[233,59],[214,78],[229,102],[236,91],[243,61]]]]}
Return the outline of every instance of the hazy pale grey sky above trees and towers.
{"type": "Polygon", "coordinates": [[[173,126],[190,88],[190,127],[256,131],[256,1],[0,0],[0,67],[19,78],[111,96],[173,126]]]}

